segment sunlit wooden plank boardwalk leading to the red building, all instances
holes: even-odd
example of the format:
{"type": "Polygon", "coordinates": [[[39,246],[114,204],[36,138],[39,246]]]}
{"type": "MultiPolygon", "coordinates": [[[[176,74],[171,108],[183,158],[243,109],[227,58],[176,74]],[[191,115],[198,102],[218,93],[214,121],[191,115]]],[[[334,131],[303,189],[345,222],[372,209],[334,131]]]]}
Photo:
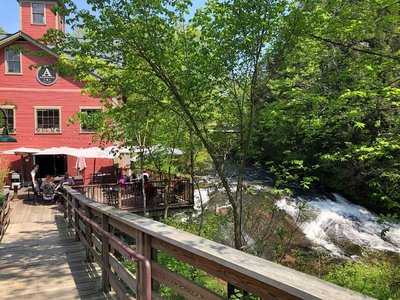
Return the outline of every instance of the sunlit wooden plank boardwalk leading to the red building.
{"type": "Polygon", "coordinates": [[[100,278],[56,205],[12,202],[0,244],[0,299],[108,299],[100,278]]]}

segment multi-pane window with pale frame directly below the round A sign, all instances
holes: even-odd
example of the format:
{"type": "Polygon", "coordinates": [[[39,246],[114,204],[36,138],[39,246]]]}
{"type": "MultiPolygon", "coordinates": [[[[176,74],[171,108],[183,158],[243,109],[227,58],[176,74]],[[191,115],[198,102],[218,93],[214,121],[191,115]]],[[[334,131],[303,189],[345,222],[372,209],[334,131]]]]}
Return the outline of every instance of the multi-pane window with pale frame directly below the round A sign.
{"type": "Polygon", "coordinates": [[[37,133],[59,133],[60,109],[37,108],[36,109],[36,132],[37,133]]]}

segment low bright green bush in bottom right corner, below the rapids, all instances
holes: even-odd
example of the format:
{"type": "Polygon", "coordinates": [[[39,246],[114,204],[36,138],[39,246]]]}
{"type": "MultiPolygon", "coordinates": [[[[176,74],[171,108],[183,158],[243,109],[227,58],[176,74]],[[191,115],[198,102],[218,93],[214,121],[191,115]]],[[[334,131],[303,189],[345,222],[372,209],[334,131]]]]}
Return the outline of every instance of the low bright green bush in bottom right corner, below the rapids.
{"type": "Polygon", "coordinates": [[[347,262],[325,279],[377,299],[400,299],[400,267],[387,262],[347,262]]]}

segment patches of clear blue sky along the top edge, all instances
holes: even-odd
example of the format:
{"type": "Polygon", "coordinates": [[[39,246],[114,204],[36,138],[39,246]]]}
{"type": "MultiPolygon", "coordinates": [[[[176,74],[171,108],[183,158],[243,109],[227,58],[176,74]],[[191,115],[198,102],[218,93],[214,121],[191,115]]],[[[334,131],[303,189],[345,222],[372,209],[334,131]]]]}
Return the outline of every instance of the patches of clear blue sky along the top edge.
{"type": "MultiPolygon", "coordinates": [[[[193,0],[193,11],[204,5],[206,0],[193,0]]],[[[79,8],[87,8],[86,0],[74,0],[79,8]]],[[[17,0],[0,0],[0,27],[7,33],[19,30],[19,15],[17,0]]]]}

